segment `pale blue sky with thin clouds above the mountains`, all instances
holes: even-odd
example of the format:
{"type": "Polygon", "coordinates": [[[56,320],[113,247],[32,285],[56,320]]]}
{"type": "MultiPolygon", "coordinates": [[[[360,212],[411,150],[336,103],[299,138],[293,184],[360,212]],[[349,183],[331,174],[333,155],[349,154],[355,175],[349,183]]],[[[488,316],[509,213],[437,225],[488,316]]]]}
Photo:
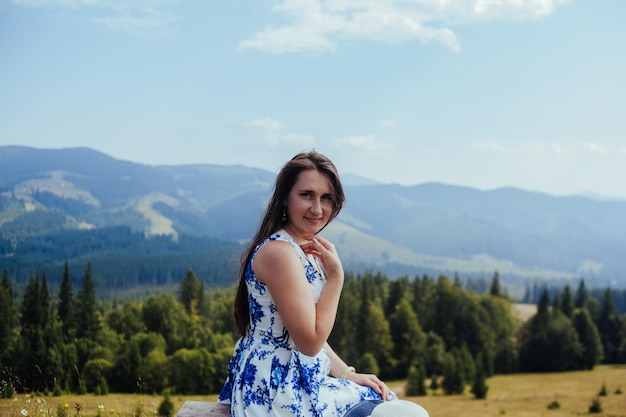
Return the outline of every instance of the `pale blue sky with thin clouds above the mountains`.
{"type": "Polygon", "coordinates": [[[0,145],[626,198],[622,0],[0,0],[0,145]]]}

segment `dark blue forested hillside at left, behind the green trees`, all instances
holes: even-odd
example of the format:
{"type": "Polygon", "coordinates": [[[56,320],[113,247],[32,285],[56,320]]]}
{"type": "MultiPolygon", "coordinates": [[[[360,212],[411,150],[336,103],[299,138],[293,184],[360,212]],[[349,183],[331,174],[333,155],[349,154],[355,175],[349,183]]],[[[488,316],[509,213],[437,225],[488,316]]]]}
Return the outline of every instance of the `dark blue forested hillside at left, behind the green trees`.
{"type": "MultiPolygon", "coordinates": [[[[29,223],[36,227],[36,221],[29,223]]],[[[241,246],[203,236],[145,236],[126,226],[93,230],[60,230],[29,236],[0,257],[0,270],[11,273],[19,288],[36,273],[48,273],[57,287],[64,262],[94,266],[93,280],[101,296],[150,285],[155,289],[178,285],[188,269],[197,271],[205,285],[229,286],[235,279],[241,246]]],[[[74,277],[74,284],[77,284],[74,277]]]]}

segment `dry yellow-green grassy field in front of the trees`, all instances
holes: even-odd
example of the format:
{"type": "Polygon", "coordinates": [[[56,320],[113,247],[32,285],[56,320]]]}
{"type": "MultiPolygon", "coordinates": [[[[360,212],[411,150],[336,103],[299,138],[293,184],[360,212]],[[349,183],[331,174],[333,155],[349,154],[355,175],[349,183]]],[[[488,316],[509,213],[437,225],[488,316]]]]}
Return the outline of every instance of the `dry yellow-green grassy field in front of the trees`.
{"type": "MultiPolygon", "coordinates": [[[[588,372],[559,374],[517,374],[495,376],[488,379],[486,400],[476,400],[469,393],[444,396],[441,393],[426,397],[406,398],[421,404],[431,417],[565,417],[606,416],[626,417],[626,366],[600,366],[588,372]],[[602,387],[606,396],[598,397],[602,387]],[[616,391],[624,391],[619,394],[616,391]],[[589,413],[594,398],[600,400],[602,412],[589,413]],[[550,404],[558,408],[549,409],[550,404]]],[[[390,384],[400,395],[402,383],[390,384]]],[[[68,416],[76,416],[76,404],[81,405],[80,416],[133,417],[156,416],[163,400],[160,396],[120,395],[26,397],[18,395],[13,400],[0,400],[0,416],[21,417],[23,410],[31,417],[57,416],[59,405],[67,405],[68,416]]],[[[175,410],[185,401],[215,401],[215,396],[186,396],[171,398],[175,410]]]]}

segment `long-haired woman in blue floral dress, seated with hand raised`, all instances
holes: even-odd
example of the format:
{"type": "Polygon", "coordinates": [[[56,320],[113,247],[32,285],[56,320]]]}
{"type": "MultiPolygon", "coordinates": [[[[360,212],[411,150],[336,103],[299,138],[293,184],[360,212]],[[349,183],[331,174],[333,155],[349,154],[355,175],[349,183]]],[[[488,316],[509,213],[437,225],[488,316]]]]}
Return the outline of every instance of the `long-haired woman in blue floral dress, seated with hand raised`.
{"type": "Polygon", "coordinates": [[[235,298],[242,337],[219,397],[232,417],[368,416],[384,401],[399,403],[377,376],[356,372],[327,343],[344,273],[334,245],[318,233],[343,202],[337,170],[322,154],[298,154],[279,172],[242,256],[235,298]]]}

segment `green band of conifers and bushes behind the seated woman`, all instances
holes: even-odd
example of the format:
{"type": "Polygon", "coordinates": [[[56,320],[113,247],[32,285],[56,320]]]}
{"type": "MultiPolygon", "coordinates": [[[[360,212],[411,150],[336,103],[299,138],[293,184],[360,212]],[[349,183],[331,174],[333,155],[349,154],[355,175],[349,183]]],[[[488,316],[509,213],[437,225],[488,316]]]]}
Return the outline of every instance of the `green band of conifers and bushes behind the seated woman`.
{"type": "MultiPolygon", "coordinates": [[[[51,294],[44,272],[21,300],[9,273],[0,282],[0,393],[216,393],[236,341],[234,289],[204,287],[189,269],[175,294],[119,302],[96,296],[93,265],[74,289],[67,262],[51,294]]],[[[592,369],[626,363],[626,320],[611,291],[598,301],[584,285],[542,291],[521,322],[494,274],[483,294],[458,277],[395,279],[346,273],[330,344],[362,372],[426,383],[445,394],[486,395],[485,378],[514,372],[592,369]]]]}

